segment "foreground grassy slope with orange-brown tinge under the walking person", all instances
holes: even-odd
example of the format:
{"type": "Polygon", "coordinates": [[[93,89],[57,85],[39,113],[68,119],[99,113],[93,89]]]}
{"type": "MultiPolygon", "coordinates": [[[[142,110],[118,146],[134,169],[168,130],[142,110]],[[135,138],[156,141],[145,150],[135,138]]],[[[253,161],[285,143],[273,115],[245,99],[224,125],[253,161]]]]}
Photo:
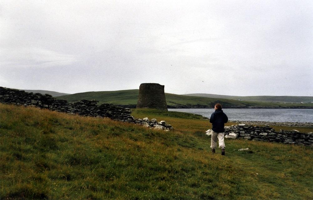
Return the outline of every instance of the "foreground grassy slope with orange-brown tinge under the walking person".
{"type": "Polygon", "coordinates": [[[175,128],[163,132],[14,105],[0,113],[0,199],[313,198],[312,148],[226,140],[226,156],[212,154],[198,115],[134,111],[175,128]]]}

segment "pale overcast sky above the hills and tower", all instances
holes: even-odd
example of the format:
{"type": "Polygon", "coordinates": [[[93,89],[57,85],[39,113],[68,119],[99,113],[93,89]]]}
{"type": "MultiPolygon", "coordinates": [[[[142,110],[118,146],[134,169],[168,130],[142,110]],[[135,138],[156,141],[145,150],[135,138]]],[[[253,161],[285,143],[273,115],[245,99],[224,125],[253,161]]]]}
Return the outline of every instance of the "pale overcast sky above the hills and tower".
{"type": "Polygon", "coordinates": [[[0,86],[313,96],[313,1],[0,1],[0,86]]]}

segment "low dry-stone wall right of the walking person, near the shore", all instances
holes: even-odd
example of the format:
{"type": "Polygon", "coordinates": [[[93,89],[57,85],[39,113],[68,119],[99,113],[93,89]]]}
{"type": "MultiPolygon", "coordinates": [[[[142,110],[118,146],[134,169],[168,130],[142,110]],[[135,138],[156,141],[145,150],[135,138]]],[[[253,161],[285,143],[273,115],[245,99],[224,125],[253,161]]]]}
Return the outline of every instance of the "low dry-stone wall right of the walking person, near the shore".
{"type": "Polygon", "coordinates": [[[300,133],[297,130],[280,130],[266,125],[251,126],[246,124],[238,124],[225,126],[225,138],[248,139],[255,141],[278,142],[285,144],[299,144],[305,146],[313,146],[313,133],[300,133]]]}

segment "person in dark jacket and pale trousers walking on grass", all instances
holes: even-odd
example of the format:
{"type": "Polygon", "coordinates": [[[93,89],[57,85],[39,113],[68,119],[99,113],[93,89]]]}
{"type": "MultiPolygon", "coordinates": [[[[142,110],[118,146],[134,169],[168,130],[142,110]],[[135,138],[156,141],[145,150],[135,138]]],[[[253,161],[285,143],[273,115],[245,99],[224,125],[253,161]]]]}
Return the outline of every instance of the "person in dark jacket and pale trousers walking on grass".
{"type": "Polygon", "coordinates": [[[215,153],[216,142],[218,138],[218,147],[222,148],[222,155],[225,155],[225,143],[224,143],[224,125],[228,122],[227,115],[222,110],[222,105],[215,104],[215,112],[212,113],[210,123],[212,123],[211,134],[211,149],[212,153],[215,153]]]}

